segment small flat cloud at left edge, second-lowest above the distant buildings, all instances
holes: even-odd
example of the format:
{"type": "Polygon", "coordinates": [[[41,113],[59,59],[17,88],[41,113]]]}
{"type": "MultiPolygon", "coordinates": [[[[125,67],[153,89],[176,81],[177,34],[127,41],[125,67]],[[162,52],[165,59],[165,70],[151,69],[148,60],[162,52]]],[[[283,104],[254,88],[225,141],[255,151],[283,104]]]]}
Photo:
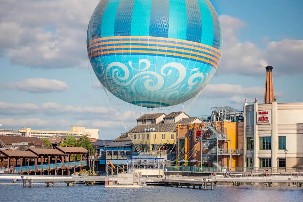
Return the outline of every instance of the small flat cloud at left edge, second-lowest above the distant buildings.
{"type": "Polygon", "coordinates": [[[34,114],[39,110],[39,106],[30,103],[14,104],[0,101],[0,114],[2,115],[21,115],[34,114]]]}

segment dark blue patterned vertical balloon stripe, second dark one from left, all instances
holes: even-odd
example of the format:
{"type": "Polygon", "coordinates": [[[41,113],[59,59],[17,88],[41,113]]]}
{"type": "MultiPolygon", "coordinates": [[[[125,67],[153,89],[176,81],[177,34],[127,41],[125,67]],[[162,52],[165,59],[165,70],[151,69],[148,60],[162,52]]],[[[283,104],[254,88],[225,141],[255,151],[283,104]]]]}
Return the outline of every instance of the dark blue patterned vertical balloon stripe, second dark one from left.
{"type": "Polygon", "coordinates": [[[115,36],[131,35],[132,12],[134,3],[135,0],[119,2],[115,19],[115,36]]]}

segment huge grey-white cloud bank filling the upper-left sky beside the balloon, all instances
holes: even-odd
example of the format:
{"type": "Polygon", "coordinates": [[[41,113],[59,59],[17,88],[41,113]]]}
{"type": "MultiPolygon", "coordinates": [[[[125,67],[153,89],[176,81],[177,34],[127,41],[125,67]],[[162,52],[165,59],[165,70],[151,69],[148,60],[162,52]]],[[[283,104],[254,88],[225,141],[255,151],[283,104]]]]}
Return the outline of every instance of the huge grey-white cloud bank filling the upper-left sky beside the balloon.
{"type": "Polygon", "coordinates": [[[12,64],[30,67],[85,64],[86,30],[97,3],[98,0],[2,1],[0,53],[5,52],[12,64]]]}

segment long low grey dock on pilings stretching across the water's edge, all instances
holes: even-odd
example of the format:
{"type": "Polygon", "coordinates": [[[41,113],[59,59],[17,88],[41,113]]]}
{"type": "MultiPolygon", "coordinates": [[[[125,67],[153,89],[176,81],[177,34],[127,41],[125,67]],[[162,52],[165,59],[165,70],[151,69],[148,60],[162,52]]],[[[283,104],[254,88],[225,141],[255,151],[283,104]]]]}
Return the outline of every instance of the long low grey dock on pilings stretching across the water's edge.
{"type": "MultiPolygon", "coordinates": [[[[66,183],[67,186],[75,185],[76,183],[83,183],[86,185],[105,184],[106,176],[51,176],[51,175],[0,175],[0,179],[11,179],[13,182],[16,180],[23,180],[23,186],[32,186],[33,182],[44,182],[47,186],[54,186],[55,183],[66,183]]],[[[113,176],[116,177],[116,176],[113,176]]],[[[271,186],[272,183],[285,184],[291,186],[291,184],[302,187],[303,173],[274,173],[267,176],[262,174],[255,174],[250,176],[248,174],[235,174],[231,176],[208,176],[208,177],[146,177],[142,178],[146,181],[147,185],[160,185],[160,186],[175,186],[175,187],[188,187],[196,188],[204,187],[204,189],[214,189],[215,185],[220,183],[240,186],[241,184],[265,184],[271,186]]]]}

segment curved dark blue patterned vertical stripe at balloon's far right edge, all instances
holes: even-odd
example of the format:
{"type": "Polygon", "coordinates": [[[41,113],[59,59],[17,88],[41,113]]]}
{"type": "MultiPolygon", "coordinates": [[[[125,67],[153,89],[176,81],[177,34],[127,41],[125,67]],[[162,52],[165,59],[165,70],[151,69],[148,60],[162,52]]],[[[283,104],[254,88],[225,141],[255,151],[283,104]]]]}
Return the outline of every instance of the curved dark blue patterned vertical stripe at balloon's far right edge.
{"type": "Polygon", "coordinates": [[[218,49],[221,51],[222,49],[222,36],[221,36],[221,26],[219,24],[219,18],[215,11],[215,8],[211,5],[211,2],[206,0],[206,3],[208,5],[209,11],[211,12],[211,18],[213,22],[213,41],[212,41],[212,47],[218,49]]]}

